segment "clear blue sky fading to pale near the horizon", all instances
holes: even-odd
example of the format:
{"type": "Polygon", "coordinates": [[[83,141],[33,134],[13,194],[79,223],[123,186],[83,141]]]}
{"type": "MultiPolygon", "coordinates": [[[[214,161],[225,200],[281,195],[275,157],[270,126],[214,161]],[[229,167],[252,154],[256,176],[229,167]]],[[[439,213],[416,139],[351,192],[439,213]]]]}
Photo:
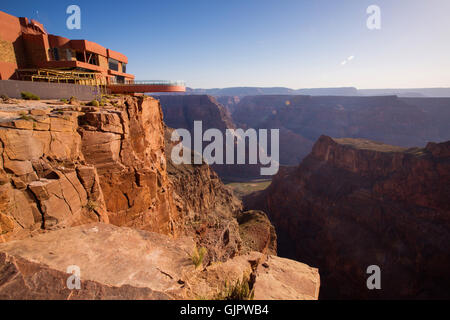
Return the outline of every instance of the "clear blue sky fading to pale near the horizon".
{"type": "Polygon", "coordinates": [[[450,87],[449,0],[20,0],[2,1],[0,10],[122,52],[141,80],[450,87]],[[81,8],[81,30],[66,28],[71,4],[81,8]],[[380,30],[366,27],[371,4],[381,9],[380,30]]]}

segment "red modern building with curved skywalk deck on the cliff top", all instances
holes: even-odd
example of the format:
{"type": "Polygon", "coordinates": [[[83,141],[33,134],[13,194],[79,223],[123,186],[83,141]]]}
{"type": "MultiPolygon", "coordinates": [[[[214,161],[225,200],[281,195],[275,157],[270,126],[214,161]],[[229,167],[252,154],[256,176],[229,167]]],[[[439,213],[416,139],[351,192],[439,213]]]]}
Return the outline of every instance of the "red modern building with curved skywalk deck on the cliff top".
{"type": "Polygon", "coordinates": [[[113,93],[185,91],[175,83],[135,84],[127,63],[120,52],[48,34],[35,20],[0,11],[0,80],[108,85],[113,93]]]}

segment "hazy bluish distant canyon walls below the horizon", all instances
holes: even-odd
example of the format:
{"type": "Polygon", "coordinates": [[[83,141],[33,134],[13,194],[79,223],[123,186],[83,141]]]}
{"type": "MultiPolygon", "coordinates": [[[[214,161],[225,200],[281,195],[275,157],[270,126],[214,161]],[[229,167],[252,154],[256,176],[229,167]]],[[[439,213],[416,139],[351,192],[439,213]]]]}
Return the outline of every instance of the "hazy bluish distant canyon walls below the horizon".
{"type": "MultiPolygon", "coordinates": [[[[164,95],[166,123],[204,129],[279,129],[280,164],[298,165],[322,135],[364,138],[402,147],[450,140],[450,98],[397,96],[164,95]]],[[[257,165],[213,166],[221,178],[264,178],[257,165]]]]}

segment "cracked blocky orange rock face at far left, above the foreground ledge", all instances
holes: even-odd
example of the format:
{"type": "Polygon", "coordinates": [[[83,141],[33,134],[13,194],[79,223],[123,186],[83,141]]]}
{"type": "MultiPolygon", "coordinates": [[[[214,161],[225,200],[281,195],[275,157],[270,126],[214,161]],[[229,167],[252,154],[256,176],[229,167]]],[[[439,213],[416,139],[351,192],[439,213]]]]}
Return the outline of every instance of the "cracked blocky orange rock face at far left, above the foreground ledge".
{"type": "Polygon", "coordinates": [[[41,228],[107,221],[95,170],[81,152],[79,113],[47,109],[1,118],[0,241],[41,228]],[[89,172],[91,189],[83,187],[81,171],[89,172]]]}

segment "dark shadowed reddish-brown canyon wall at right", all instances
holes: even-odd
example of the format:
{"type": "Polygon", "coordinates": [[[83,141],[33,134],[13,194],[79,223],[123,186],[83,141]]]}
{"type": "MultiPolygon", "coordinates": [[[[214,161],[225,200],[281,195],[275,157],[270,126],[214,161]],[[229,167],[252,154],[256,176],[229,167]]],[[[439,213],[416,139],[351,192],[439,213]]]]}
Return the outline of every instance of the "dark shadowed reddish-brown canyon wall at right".
{"type": "Polygon", "coordinates": [[[281,256],[319,268],[321,298],[449,297],[450,143],[405,149],[322,136],[299,167],[246,198],[281,256]],[[366,270],[381,268],[381,290],[366,270]]]}

